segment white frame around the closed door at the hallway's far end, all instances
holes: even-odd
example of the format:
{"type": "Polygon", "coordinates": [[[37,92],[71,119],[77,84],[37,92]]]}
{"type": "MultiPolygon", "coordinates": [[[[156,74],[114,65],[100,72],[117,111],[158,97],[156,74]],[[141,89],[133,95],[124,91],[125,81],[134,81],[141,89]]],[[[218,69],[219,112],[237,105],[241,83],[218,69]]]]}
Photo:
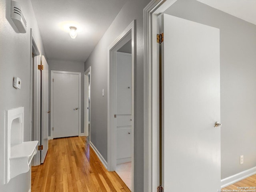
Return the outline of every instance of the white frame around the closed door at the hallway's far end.
{"type": "Polygon", "coordinates": [[[64,74],[74,74],[74,75],[78,75],[78,136],[82,136],[83,134],[81,133],[81,73],[80,72],[70,72],[70,71],[54,71],[51,70],[51,135],[50,135],[50,139],[53,139],[53,82],[52,82],[52,77],[53,77],[53,73],[64,73],[64,74]]]}

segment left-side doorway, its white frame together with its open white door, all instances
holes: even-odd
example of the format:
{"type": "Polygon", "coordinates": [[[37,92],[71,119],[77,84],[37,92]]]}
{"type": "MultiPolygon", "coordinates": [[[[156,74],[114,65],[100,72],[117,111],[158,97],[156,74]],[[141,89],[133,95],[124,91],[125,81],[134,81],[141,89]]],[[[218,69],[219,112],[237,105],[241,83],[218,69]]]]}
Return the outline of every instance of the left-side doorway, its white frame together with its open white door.
{"type": "Polygon", "coordinates": [[[38,141],[38,152],[31,165],[37,166],[44,162],[48,151],[48,64],[32,29],[30,41],[30,140],[38,141]]]}

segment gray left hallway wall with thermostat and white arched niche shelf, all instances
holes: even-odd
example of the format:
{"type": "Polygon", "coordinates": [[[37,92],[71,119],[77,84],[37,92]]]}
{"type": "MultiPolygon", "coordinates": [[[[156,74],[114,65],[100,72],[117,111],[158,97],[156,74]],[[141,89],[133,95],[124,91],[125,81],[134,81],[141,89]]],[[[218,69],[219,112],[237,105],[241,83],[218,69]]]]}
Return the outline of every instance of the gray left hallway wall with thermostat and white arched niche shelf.
{"type": "MultiPolygon", "coordinates": [[[[16,0],[22,6],[27,21],[26,34],[14,31],[9,20],[11,0],[0,1],[0,177],[3,173],[4,111],[24,107],[24,141],[30,140],[30,28],[45,55],[38,25],[30,0],[16,0]],[[7,11],[6,11],[7,10],[7,11]],[[8,20],[6,18],[8,16],[8,20]],[[20,77],[21,89],[12,87],[14,76],[20,77]]],[[[0,183],[1,192],[27,192],[30,173],[12,178],[6,185],[0,183]]]]}

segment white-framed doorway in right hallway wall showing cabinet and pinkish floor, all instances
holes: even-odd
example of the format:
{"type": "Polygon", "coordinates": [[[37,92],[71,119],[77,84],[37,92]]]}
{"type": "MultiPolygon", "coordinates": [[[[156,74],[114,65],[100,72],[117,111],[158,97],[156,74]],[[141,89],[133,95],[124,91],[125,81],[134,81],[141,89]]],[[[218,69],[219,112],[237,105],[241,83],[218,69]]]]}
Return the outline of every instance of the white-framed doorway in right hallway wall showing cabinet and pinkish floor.
{"type": "Polygon", "coordinates": [[[108,48],[108,170],[134,191],[135,21],[108,48]],[[126,174],[123,174],[126,172],[126,174]]]}

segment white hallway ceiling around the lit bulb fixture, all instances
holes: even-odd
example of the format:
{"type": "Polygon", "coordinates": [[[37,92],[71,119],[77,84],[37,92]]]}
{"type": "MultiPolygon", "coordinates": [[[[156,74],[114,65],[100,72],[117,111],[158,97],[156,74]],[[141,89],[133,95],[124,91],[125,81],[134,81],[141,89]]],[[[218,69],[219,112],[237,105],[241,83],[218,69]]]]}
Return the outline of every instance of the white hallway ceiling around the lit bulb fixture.
{"type": "Polygon", "coordinates": [[[86,61],[127,0],[31,0],[48,59],[86,61]],[[76,39],[69,36],[75,26],[76,39]]]}

